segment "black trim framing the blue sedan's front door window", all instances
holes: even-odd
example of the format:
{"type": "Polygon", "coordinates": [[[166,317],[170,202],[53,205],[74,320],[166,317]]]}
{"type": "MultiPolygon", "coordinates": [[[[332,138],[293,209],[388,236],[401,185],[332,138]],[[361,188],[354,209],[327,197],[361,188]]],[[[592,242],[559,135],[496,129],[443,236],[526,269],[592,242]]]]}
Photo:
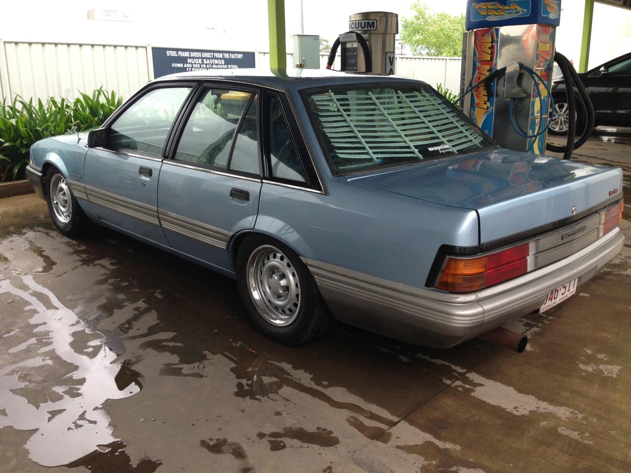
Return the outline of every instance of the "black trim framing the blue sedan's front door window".
{"type": "Polygon", "coordinates": [[[199,85],[198,81],[189,81],[189,80],[150,83],[150,84],[144,86],[143,88],[141,88],[136,93],[134,93],[134,95],[132,95],[129,98],[129,100],[124,102],[121,105],[121,107],[119,107],[117,110],[115,110],[114,113],[112,115],[110,115],[109,118],[107,120],[105,120],[105,122],[103,123],[102,128],[107,129],[107,133],[109,135],[109,131],[111,129],[112,124],[117,119],[119,119],[119,117],[121,117],[122,114],[124,114],[127,110],[129,110],[129,108],[131,108],[132,105],[134,105],[134,103],[138,102],[138,100],[143,98],[150,91],[153,91],[153,90],[156,90],[156,89],[162,89],[162,88],[174,89],[174,88],[187,88],[187,87],[190,87],[191,90],[189,91],[189,93],[186,96],[186,98],[184,98],[184,101],[182,102],[182,105],[180,105],[180,108],[177,111],[177,114],[175,114],[175,118],[174,118],[174,120],[173,120],[173,122],[171,124],[171,127],[168,129],[167,137],[165,139],[164,146],[162,147],[162,154],[161,155],[157,155],[155,153],[146,153],[144,151],[137,151],[136,149],[114,148],[114,147],[110,147],[110,146],[100,147],[98,149],[102,149],[103,151],[110,151],[110,153],[116,153],[118,155],[134,156],[136,158],[144,158],[144,159],[148,159],[148,160],[152,160],[152,161],[162,161],[162,160],[164,160],[165,156],[166,156],[167,147],[168,147],[168,144],[169,144],[169,141],[170,141],[170,137],[172,136],[172,134],[173,134],[173,132],[175,130],[175,127],[176,127],[177,122],[179,120],[180,114],[182,114],[182,110],[184,110],[184,108],[186,108],[187,103],[191,99],[191,96],[194,95],[196,89],[198,88],[198,85],[199,85]]]}

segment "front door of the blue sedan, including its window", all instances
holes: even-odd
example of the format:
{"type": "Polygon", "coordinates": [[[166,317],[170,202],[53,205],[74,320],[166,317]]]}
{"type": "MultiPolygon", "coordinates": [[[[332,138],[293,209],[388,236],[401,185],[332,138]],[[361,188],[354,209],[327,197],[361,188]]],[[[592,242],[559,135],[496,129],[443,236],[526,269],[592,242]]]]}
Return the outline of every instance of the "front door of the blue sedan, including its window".
{"type": "Polygon", "coordinates": [[[168,134],[194,83],[162,83],[107,124],[107,145],[86,154],[86,194],[103,223],[168,245],[158,221],[158,177],[168,134]]]}

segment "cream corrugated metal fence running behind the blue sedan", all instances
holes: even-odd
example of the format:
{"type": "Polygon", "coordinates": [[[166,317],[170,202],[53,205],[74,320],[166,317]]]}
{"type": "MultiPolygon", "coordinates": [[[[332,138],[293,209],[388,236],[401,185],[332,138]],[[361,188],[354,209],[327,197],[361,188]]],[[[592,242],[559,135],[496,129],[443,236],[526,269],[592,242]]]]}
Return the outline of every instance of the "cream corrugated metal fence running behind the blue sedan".
{"type": "MultiPolygon", "coordinates": [[[[255,53],[257,67],[269,67],[269,53],[255,53]]],[[[326,67],[321,54],[321,68],[326,67]]],[[[460,58],[399,56],[399,76],[442,84],[457,93],[460,58]]],[[[287,64],[293,64],[287,54],[287,64]]],[[[339,69],[339,54],[333,66],[339,69]]],[[[150,45],[29,43],[0,40],[0,102],[15,95],[25,99],[74,98],[80,91],[103,86],[129,97],[153,79],[150,45]]]]}

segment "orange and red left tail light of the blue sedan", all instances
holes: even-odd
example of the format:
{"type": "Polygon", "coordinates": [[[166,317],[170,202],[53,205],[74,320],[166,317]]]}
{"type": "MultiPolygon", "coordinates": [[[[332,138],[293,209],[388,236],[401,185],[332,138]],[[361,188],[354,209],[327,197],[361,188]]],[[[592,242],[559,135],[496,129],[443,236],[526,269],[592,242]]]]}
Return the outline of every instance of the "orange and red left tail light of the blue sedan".
{"type": "Polygon", "coordinates": [[[468,293],[503,283],[528,272],[530,243],[475,258],[449,256],[436,287],[453,293],[468,293]]]}

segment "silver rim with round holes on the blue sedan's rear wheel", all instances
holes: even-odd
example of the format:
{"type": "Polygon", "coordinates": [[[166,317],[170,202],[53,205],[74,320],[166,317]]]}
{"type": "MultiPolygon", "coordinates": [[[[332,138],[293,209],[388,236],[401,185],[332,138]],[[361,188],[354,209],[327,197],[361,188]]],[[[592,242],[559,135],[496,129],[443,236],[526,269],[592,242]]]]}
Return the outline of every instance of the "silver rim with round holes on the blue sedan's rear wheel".
{"type": "Polygon", "coordinates": [[[278,248],[262,245],[247,261],[250,296],[262,317],[277,327],[291,324],[300,310],[300,280],[293,263],[278,248]]]}

